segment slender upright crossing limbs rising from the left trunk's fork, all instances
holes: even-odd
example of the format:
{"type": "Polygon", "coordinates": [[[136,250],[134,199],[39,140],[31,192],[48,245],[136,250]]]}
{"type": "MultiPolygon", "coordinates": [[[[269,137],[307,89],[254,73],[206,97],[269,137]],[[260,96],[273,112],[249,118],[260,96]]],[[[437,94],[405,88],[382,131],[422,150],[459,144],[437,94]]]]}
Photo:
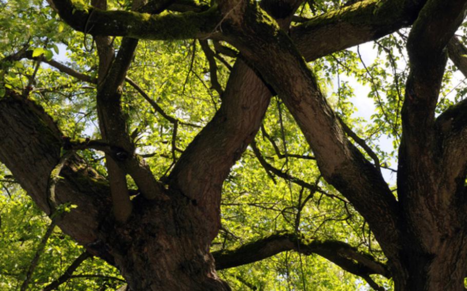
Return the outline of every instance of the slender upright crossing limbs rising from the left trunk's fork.
{"type": "MultiPolygon", "coordinates": [[[[158,2],[159,6],[153,7],[156,10],[154,12],[160,12],[168,3],[167,0],[158,2]]],[[[100,4],[99,8],[106,8],[105,1],[101,3],[96,1],[95,4],[100,4]]],[[[134,1],[132,8],[136,9],[138,4],[134,1]]],[[[114,214],[119,221],[126,221],[131,214],[132,203],[129,199],[125,172],[131,175],[145,198],[165,198],[165,195],[162,194],[159,183],[144,159],[134,153],[134,145],[130,140],[126,120],[121,111],[121,87],[137,48],[138,39],[124,37],[114,59],[110,38],[96,36],[95,39],[100,57],[96,99],[101,134],[109,143],[125,149],[128,153],[116,157],[106,154],[114,214]]]]}

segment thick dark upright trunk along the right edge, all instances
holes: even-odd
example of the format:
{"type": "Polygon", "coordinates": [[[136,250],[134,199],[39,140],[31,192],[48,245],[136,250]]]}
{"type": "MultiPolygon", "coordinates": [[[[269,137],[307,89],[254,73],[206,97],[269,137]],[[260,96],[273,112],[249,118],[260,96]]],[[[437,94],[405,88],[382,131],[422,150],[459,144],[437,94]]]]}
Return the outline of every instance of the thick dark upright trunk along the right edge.
{"type": "Polygon", "coordinates": [[[464,289],[466,163],[460,152],[465,147],[452,140],[448,124],[437,127],[435,107],[446,64],[444,48],[461,24],[466,5],[427,2],[407,41],[411,72],[402,107],[397,175],[405,270],[394,274],[401,290],[464,289]]]}

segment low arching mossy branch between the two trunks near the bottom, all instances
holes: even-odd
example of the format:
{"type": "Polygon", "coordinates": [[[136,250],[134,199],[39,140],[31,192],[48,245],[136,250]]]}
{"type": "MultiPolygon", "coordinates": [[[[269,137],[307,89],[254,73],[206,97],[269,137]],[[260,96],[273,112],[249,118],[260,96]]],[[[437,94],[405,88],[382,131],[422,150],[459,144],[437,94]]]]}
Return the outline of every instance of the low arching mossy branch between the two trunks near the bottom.
{"type": "Polygon", "coordinates": [[[235,250],[213,252],[212,256],[216,261],[216,269],[221,270],[257,262],[285,251],[320,255],[357,276],[380,274],[387,278],[391,277],[386,265],[377,262],[371,255],[357,251],[355,247],[347,243],[306,241],[289,233],[270,235],[244,244],[235,250]]]}

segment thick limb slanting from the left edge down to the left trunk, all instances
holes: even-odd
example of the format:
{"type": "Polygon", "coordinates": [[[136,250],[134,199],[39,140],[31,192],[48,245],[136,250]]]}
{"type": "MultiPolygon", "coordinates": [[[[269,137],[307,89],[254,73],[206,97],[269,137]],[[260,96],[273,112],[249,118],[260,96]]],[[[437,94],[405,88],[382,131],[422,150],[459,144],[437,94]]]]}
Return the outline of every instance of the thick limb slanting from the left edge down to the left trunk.
{"type": "MultiPolygon", "coordinates": [[[[60,159],[62,133],[41,107],[8,90],[0,100],[0,135],[0,161],[38,207],[50,213],[47,181],[60,159]]],[[[111,209],[108,182],[77,158],[70,160],[60,175],[63,179],[56,185],[57,203],[69,202],[77,207],[57,225],[92,254],[112,262],[98,243],[99,223],[111,209]]]]}

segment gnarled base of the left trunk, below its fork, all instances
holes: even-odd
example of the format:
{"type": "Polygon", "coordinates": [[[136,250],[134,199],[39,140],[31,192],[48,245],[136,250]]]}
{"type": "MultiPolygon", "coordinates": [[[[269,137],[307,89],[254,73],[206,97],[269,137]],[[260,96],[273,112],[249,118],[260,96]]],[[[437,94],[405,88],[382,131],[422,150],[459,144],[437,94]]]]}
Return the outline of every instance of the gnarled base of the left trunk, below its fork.
{"type": "MultiPolygon", "coordinates": [[[[122,226],[108,224],[102,240],[132,290],[230,290],[216,274],[199,207],[180,194],[172,201],[133,199],[122,226]]],[[[104,226],[106,227],[106,226],[104,226]]]]}

